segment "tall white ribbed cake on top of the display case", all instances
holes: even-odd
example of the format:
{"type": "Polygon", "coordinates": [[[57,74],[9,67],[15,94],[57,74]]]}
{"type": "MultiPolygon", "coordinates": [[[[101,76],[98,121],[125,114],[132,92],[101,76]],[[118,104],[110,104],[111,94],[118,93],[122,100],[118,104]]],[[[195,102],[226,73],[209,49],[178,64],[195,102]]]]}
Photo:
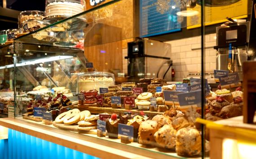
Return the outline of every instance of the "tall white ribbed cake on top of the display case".
{"type": "Polygon", "coordinates": [[[71,17],[84,12],[85,0],[46,0],[46,17],[71,17]]]}

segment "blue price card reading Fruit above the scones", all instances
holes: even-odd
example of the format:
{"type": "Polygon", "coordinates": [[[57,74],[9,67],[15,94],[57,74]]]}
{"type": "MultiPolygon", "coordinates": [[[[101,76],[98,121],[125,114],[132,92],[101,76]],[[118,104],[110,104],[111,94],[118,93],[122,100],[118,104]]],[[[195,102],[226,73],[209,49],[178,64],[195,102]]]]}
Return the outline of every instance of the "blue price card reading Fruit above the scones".
{"type": "Polygon", "coordinates": [[[186,92],[178,94],[181,109],[201,107],[201,91],[186,92]]]}

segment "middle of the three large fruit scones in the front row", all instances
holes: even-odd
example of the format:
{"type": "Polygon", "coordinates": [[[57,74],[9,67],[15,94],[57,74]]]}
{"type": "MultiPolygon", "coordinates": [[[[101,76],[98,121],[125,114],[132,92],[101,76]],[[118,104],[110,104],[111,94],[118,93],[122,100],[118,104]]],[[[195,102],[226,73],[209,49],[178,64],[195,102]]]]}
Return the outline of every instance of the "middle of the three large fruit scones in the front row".
{"type": "Polygon", "coordinates": [[[164,125],[154,133],[154,139],[159,147],[172,149],[176,145],[176,133],[177,131],[171,125],[164,125]]]}

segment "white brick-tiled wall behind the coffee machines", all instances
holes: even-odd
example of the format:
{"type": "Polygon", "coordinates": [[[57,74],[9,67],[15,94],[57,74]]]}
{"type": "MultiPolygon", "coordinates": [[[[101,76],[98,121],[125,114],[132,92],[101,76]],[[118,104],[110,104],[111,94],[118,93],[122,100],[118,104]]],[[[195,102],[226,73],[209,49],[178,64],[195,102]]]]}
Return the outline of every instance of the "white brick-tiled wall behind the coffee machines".
{"type": "MultiPolygon", "coordinates": [[[[174,81],[182,81],[191,71],[201,71],[201,36],[169,41],[172,45],[170,58],[175,69],[174,81]]],[[[205,35],[205,69],[216,68],[216,33],[205,35]]],[[[123,49],[123,72],[127,73],[127,48],[123,49]]]]}

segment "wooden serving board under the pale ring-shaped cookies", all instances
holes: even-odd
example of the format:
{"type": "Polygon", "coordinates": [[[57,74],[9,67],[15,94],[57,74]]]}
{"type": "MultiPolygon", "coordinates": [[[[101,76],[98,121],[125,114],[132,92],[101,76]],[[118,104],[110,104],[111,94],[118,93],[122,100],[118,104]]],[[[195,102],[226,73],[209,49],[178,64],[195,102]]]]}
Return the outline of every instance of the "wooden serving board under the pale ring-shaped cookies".
{"type": "Polygon", "coordinates": [[[62,130],[67,130],[67,131],[75,131],[78,132],[80,134],[97,134],[97,129],[93,129],[93,130],[78,130],[78,125],[65,125],[65,124],[59,124],[56,123],[55,121],[53,121],[53,126],[62,129],[62,130]]]}

